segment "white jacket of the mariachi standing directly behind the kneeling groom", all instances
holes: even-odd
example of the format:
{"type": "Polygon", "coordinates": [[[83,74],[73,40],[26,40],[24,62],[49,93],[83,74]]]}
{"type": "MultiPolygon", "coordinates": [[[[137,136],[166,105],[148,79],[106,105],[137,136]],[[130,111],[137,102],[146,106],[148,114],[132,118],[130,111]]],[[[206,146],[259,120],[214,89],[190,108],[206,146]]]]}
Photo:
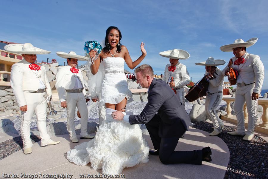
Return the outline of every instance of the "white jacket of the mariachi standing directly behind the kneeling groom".
{"type": "Polygon", "coordinates": [[[170,82],[169,77],[171,75],[174,78],[175,87],[181,88],[190,83],[189,72],[187,71],[186,66],[184,64],[178,62],[175,66],[176,69],[174,70],[174,72],[169,71],[169,66],[171,66],[171,64],[166,65],[164,76],[162,79],[163,81],[166,81],[166,83],[170,82]]]}

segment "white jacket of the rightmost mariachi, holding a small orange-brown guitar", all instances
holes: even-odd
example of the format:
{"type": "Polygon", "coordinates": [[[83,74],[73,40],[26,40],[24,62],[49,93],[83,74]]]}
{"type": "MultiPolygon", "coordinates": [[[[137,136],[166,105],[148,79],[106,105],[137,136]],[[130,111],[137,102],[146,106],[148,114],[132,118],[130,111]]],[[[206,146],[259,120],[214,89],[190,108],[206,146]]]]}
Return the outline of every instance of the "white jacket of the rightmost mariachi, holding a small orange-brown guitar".
{"type": "MultiPolygon", "coordinates": [[[[258,55],[247,53],[243,56],[244,63],[238,65],[233,64],[232,68],[239,71],[238,79],[236,83],[254,83],[255,86],[253,92],[260,94],[261,87],[264,80],[264,66],[258,55]]],[[[233,57],[233,62],[236,61],[236,57],[233,57]]],[[[225,70],[228,69],[228,65],[222,70],[222,74],[225,75],[225,70]]]]}

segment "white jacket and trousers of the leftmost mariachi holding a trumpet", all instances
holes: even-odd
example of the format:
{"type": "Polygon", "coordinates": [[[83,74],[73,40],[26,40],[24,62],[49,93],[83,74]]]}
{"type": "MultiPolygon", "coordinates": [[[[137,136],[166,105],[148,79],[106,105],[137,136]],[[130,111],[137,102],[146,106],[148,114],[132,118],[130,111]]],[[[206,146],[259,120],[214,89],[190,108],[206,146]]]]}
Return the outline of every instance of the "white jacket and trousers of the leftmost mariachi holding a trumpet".
{"type": "Polygon", "coordinates": [[[32,147],[30,124],[33,112],[37,115],[37,128],[40,133],[41,146],[51,141],[46,130],[47,101],[44,97],[45,92],[35,92],[39,89],[46,89],[51,98],[51,87],[46,76],[45,67],[40,66],[40,70],[31,70],[29,68],[30,64],[24,59],[13,64],[10,75],[10,84],[18,101],[18,106],[27,105],[27,111],[21,112],[21,138],[24,149],[32,147]]]}

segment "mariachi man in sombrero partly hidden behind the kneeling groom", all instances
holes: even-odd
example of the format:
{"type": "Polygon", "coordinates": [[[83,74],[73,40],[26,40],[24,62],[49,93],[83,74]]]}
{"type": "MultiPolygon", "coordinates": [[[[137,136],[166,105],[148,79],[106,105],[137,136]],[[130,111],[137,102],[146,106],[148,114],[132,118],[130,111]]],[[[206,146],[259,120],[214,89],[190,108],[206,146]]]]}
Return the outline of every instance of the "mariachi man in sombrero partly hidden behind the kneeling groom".
{"type": "Polygon", "coordinates": [[[190,54],[185,50],[173,49],[160,52],[159,55],[169,58],[170,64],[166,65],[163,81],[169,84],[180,99],[180,102],[185,106],[185,88],[184,86],[190,83],[190,76],[184,64],[179,62],[179,59],[188,59],[190,54]],[[172,81],[172,77],[174,81],[172,81]]]}

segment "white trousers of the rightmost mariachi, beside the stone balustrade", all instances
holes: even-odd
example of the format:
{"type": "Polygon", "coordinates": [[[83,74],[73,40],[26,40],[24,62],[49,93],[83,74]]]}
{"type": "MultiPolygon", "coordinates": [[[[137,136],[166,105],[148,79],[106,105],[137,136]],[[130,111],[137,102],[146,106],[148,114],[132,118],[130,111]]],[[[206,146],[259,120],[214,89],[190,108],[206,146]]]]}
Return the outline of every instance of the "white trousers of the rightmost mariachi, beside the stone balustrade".
{"type": "Polygon", "coordinates": [[[243,107],[246,103],[248,113],[248,126],[247,135],[253,134],[258,121],[258,100],[252,100],[251,95],[253,93],[255,83],[249,84],[244,87],[236,87],[236,96],[234,103],[234,111],[237,119],[237,131],[245,132],[244,126],[244,110],[243,107]]]}

